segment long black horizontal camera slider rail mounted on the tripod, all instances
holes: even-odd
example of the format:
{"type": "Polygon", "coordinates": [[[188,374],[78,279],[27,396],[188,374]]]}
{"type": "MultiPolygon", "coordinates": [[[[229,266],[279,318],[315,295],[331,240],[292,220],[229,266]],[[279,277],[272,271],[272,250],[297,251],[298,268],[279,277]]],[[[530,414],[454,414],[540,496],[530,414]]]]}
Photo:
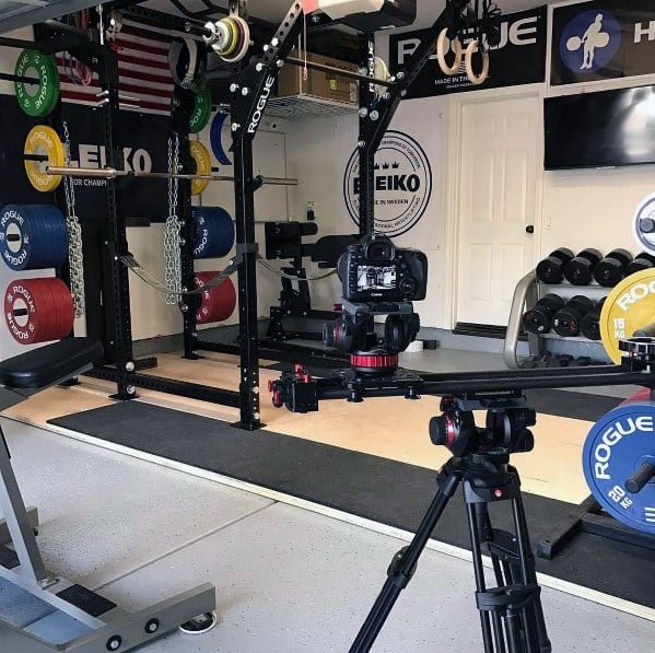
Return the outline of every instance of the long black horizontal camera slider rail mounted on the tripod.
{"type": "Polygon", "coordinates": [[[498,400],[499,393],[518,398],[526,389],[640,385],[655,388],[655,370],[648,358],[629,352],[620,365],[594,365],[551,370],[511,370],[418,374],[399,369],[386,376],[365,376],[353,370],[335,371],[334,376],[315,378],[303,365],[295,365],[279,380],[269,383],[273,406],[286,406],[292,412],[318,410],[318,401],[347,399],[363,401],[366,397],[405,397],[456,395],[478,401],[498,400]]]}

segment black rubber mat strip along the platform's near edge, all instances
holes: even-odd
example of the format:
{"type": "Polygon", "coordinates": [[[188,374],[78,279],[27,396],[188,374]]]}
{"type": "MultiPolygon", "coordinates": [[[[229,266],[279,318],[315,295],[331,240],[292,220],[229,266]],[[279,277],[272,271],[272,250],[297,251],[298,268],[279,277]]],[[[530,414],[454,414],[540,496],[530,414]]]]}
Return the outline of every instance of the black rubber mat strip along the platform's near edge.
{"type": "MultiPolygon", "coordinates": [[[[50,423],[405,530],[416,530],[436,490],[436,473],[423,467],[266,430],[241,431],[219,420],[139,401],[50,423]]],[[[521,471],[521,454],[513,462],[521,471]]],[[[527,493],[525,508],[533,544],[548,539],[551,528],[576,509],[527,493]]],[[[496,526],[510,527],[508,509],[504,502],[491,506],[496,526]]],[[[434,537],[469,548],[459,492],[434,537]]],[[[583,533],[554,560],[538,560],[537,565],[549,575],[655,608],[655,584],[650,582],[655,576],[655,551],[583,533]]],[[[381,569],[381,586],[384,575],[381,569]]]]}

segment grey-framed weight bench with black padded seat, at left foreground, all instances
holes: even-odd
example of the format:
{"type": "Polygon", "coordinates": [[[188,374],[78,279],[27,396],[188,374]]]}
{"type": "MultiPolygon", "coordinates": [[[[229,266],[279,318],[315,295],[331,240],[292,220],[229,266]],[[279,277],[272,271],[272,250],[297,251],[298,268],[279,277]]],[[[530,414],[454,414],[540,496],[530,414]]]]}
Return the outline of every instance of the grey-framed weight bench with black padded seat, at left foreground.
{"type": "MultiPolygon", "coordinates": [[[[70,338],[0,363],[0,410],[86,372],[103,358],[90,338],[70,338]]],[[[25,509],[7,440],[0,428],[0,578],[89,628],[66,643],[42,640],[0,620],[0,651],[47,653],[130,651],[184,625],[203,631],[213,625],[213,585],[206,583],[152,607],[130,614],[115,603],[45,568],[36,544],[38,516],[25,509]]]]}

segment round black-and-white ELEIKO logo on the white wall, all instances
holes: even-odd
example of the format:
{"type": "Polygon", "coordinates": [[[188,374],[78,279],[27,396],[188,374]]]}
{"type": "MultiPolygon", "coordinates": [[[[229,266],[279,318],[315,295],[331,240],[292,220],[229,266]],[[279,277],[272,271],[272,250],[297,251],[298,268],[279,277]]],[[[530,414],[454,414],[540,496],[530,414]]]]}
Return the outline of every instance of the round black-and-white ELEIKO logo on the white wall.
{"type": "MultiPolygon", "coordinates": [[[[360,220],[360,155],[355,150],[343,176],[350,217],[360,220]]],[[[375,155],[375,231],[399,236],[425,213],[432,196],[432,170],[419,143],[401,131],[387,131],[375,155]]]]}

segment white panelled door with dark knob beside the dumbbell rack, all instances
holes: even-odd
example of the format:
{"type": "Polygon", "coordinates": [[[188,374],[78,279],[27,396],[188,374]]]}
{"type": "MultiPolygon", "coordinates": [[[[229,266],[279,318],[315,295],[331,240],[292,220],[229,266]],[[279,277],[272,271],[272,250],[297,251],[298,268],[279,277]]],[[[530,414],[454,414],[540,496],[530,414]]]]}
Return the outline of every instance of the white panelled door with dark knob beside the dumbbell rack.
{"type": "Polygon", "coordinates": [[[535,265],[541,161],[538,95],[461,107],[457,322],[507,325],[518,280],[535,265]]]}

